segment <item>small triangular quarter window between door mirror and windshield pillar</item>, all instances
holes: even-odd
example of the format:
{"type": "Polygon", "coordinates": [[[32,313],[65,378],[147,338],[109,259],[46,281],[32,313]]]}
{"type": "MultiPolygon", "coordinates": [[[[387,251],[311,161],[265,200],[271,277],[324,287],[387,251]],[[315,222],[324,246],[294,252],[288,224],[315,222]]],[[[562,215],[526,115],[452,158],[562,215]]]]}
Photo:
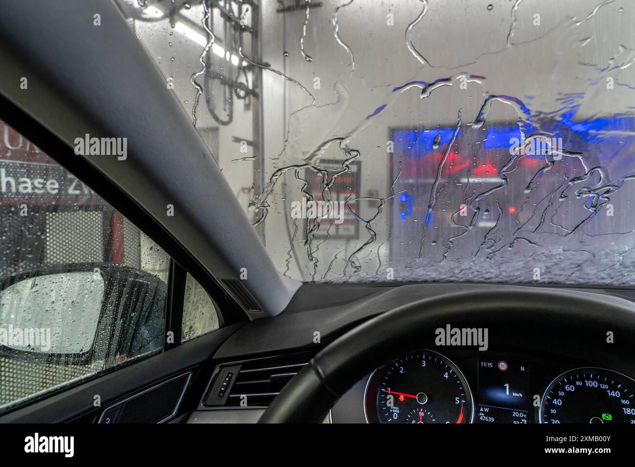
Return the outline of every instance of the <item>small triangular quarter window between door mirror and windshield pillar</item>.
{"type": "Polygon", "coordinates": [[[210,295],[190,274],[185,278],[181,342],[218,329],[218,313],[210,295]]]}

